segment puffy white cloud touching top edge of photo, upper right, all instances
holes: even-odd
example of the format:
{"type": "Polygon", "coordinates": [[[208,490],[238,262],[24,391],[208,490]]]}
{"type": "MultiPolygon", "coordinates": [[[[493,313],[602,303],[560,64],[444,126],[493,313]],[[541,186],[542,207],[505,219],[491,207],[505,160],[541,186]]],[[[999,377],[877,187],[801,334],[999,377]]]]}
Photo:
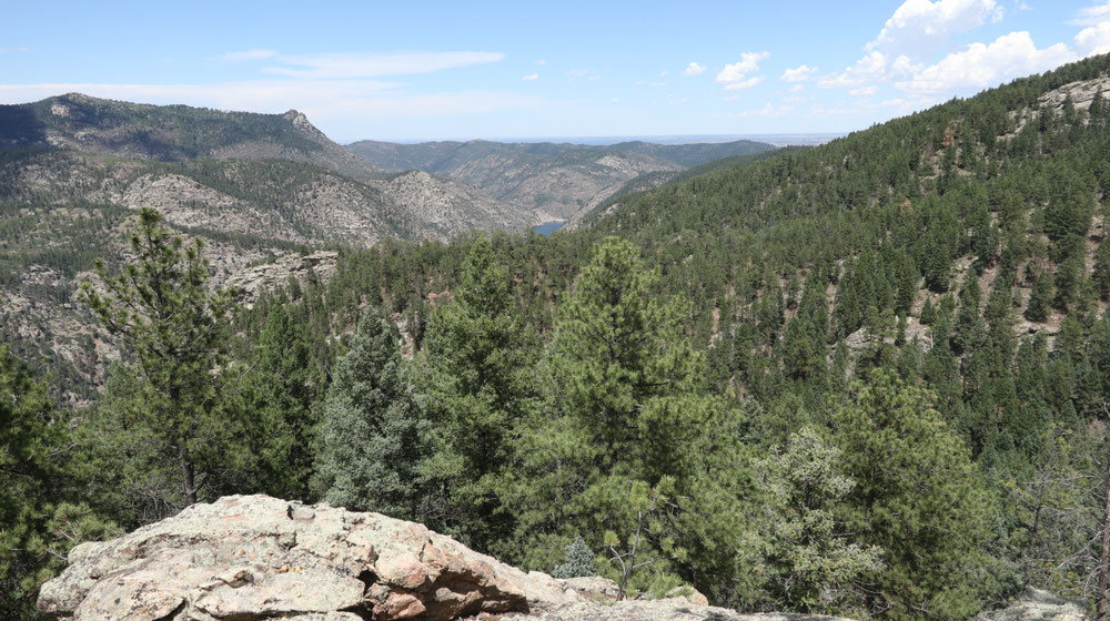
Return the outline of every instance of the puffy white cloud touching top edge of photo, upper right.
{"type": "Polygon", "coordinates": [[[944,49],[951,34],[998,22],[1002,12],[996,0],[906,0],[864,49],[928,55],[944,49]]]}

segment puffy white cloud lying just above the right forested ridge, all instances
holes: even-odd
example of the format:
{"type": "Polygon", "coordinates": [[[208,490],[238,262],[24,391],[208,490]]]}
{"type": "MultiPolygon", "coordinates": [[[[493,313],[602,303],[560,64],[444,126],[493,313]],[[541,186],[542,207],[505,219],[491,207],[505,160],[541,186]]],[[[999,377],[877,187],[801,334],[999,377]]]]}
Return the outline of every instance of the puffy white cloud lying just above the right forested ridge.
{"type": "Polygon", "coordinates": [[[1074,52],[1063,43],[1039,50],[1028,32],[1011,32],[990,44],[972,43],[961,52],[948,54],[895,85],[911,94],[948,94],[993,86],[1072,60],[1074,52]]]}

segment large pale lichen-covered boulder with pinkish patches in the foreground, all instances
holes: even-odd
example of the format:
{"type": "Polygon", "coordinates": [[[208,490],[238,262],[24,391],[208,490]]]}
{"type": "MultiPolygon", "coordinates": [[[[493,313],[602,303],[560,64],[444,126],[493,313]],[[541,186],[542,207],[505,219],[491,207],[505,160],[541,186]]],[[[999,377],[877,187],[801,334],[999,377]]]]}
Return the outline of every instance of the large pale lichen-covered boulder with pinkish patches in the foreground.
{"type": "Polygon", "coordinates": [[[69,560],[39,608],[77,621],[435,620],[583,599],[417,523],[265,496],[194,505],[69,560]]]}

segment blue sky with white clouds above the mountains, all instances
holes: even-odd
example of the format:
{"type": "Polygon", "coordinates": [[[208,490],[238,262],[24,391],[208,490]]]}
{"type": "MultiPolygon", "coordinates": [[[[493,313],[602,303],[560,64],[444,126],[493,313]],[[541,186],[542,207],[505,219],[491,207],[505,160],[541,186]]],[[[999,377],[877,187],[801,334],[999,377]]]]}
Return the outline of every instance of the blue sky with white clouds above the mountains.
{"type": "Polygon", "coordinates": [[[0,103],[278,113],[333,140],[846,133],[1110,52],[1110,0],[3,0],[0,103]]]}

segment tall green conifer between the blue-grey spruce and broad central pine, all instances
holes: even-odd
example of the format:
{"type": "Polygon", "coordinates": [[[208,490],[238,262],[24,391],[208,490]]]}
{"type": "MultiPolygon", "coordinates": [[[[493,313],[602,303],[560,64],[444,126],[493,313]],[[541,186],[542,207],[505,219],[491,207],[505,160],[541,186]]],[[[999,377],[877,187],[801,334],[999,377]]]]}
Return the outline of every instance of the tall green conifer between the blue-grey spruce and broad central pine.
{"type": "Polygon", "coordinates": [[[428,320],[420,355],[421,393],[435,437],[425,476],[436,481],[436,520],[480,549],[512,525],[498,511],[498,478],[513,440],[536,406],[538,337],[525,326],[490,242],[480,236],[455,298],[428,320]]]}

